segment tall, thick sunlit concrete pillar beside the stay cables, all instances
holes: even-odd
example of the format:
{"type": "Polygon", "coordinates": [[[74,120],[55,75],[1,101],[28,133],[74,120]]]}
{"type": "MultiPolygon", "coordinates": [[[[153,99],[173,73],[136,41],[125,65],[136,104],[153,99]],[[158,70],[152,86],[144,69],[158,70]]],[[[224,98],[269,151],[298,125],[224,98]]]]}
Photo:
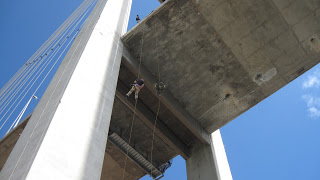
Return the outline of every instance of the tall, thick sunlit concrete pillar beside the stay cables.
{"type": "Polygon", "coordinates": [[[131,0],[99,0],[0,179],[100,179],[131,0]]]}

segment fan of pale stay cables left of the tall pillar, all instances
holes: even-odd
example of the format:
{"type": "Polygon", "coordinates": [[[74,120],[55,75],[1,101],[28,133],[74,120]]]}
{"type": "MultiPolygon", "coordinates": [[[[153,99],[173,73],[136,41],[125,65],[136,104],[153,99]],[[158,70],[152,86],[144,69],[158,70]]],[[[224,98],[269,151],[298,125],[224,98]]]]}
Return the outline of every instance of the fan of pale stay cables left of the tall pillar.
{"type": "MultiPolygon", "coordinates": [[[[0,90],[1,133],[4,128],[8,133],[18,125],[28,106],[33,104],[32,97],[43,84],[49,82],[48,77],[52,77],[51,72],[61,63],[61,57],[75,40],[84,24],[84,19],[95,3],[96,0],[85,0],[0,90]],[[24,106],[23,102],[26,102],[24,106]],[[20,108],[21,111],[18,113],[17,110],[20,108]],[[11,120],[11,116],[15,114],[17,117],[11,120]],[[11,126],[7,125],[8,122],[11,126]]],[[[40,95],[42,93],[40,92],[40,95]]]]}

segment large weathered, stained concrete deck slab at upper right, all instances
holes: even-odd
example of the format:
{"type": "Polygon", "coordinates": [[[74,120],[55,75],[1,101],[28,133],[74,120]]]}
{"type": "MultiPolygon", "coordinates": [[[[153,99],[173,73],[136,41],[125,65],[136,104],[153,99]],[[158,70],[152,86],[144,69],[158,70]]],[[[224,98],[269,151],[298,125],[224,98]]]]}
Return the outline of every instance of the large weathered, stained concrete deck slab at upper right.
{"type": "Polygon", "coordinates": [[[319,2],[169,0],[122,39],[211,133],[319,62],[319,2]]]}

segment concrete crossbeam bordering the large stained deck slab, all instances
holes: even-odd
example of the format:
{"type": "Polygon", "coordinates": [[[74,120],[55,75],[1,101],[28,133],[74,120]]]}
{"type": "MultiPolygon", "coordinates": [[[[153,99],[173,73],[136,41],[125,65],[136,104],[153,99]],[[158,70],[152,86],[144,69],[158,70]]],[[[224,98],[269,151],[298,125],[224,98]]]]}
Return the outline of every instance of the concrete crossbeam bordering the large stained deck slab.
{"type": "MultiPolygon", "coordinates": [[[[139,69],[139,63],[134,60],[126,47],[123,48],[123,64],[132,72],[139,69]]],[[[153,75],[143,66],[140,66],[140,75],[145,79],[145,86],[157,96],[157,91],[154,88],[156,83],[153,75]]],[[[210,135],[205,129],[187,112],[177,99],[169,91],[161,93],[160,101],[163,103],[180,121],[184,124],[202,143],[210,144],[210,135]]]]}

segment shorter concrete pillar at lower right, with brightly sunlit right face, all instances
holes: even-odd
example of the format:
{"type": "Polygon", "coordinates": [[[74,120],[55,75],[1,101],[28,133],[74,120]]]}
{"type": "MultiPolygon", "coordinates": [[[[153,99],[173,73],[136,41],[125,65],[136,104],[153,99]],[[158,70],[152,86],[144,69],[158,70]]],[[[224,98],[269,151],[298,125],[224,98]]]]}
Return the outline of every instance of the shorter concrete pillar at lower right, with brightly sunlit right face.
{"type": "Polygon", "coordinates": [[[211,134],[211,145],[193,147],[186,166],[188,180],[232,180],[219,130],[211,134]]]}

